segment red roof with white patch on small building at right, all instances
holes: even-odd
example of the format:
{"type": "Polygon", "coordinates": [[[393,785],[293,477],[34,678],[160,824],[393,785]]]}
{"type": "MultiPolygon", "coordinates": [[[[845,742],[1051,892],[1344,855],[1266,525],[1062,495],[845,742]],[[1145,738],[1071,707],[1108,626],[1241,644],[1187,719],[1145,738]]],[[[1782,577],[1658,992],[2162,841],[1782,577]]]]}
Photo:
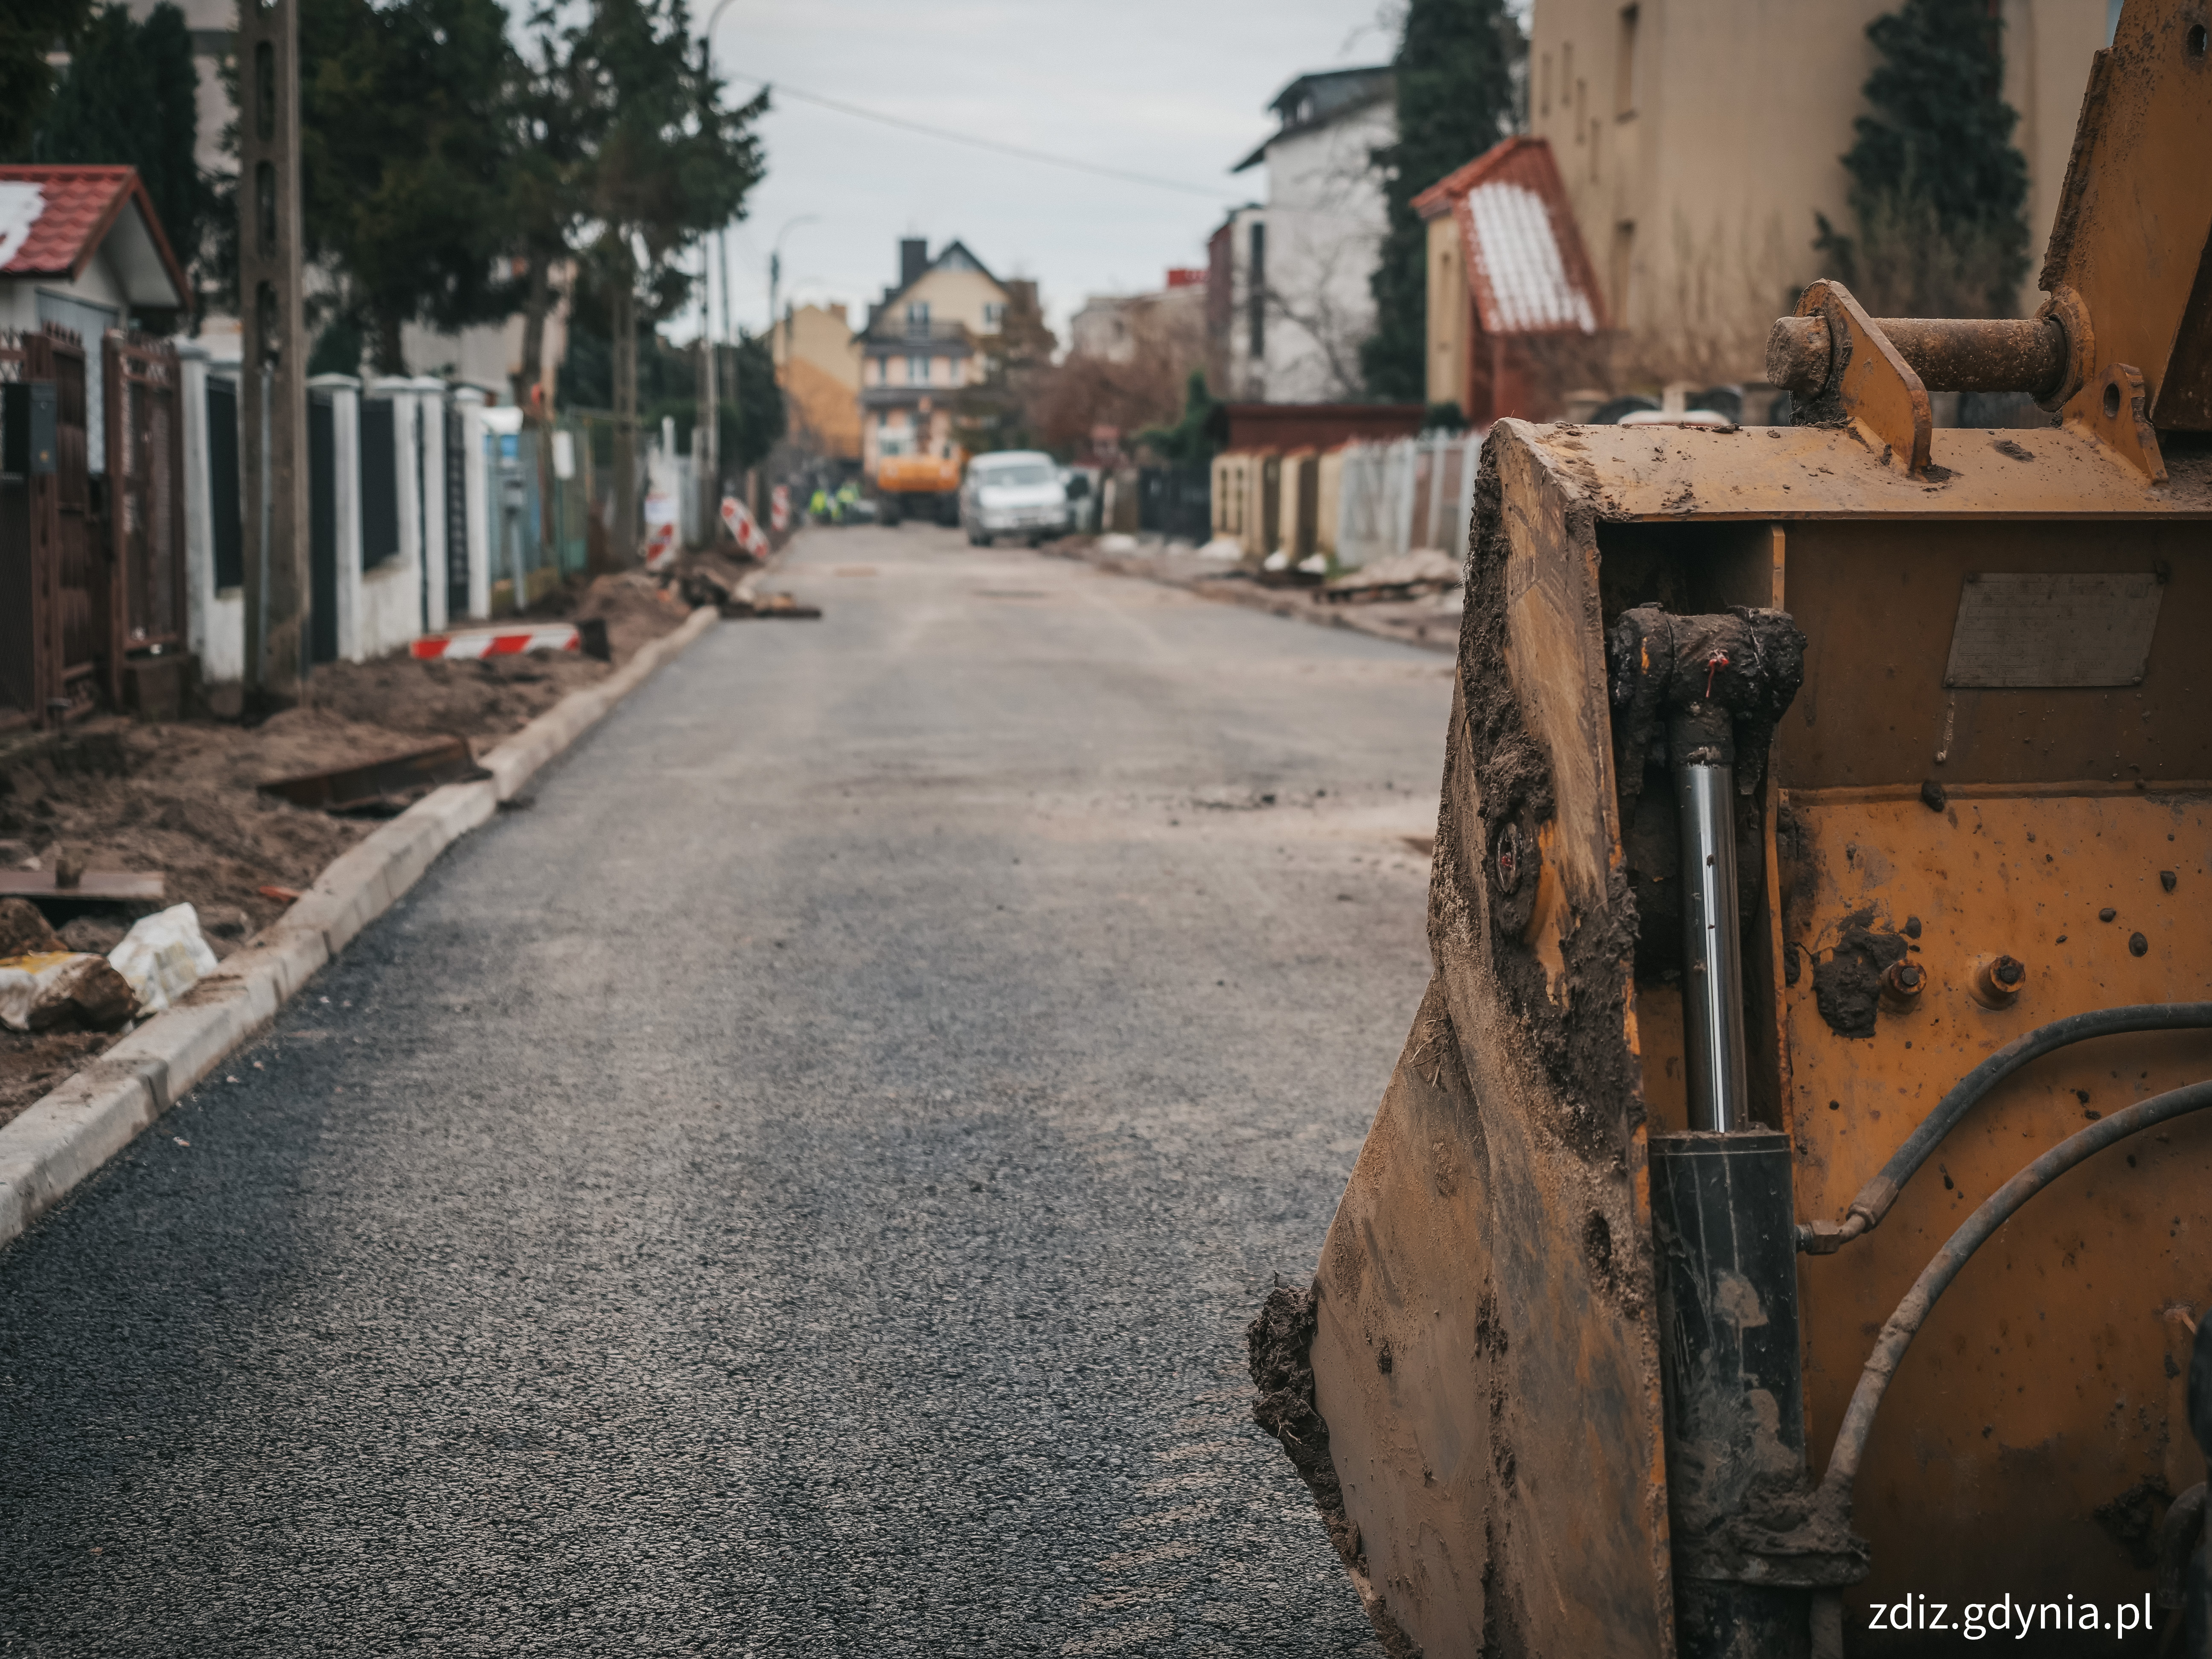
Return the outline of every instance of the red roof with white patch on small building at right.
{"type": "Polygon", "coordinates": [[[1467,288],[1486,334],[1599,334],[1610,327],[1590,254],[1551,144],[1509,137],[1418,197],[1422,219],[1451,215],[1467,288]]]}

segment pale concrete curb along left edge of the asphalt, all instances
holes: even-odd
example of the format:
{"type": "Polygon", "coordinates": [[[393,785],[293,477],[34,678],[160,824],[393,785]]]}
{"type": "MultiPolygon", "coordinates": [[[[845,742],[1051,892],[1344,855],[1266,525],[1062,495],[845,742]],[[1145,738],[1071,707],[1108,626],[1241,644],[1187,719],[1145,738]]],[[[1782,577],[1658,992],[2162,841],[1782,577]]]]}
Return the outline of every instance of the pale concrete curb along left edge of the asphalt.
{"type": "Polygon", "coordinates": [[[538,770],[588,732],[653,672],[679,657],[719,617],[692,611],[675,633],[644,646],[617,672],[568,692],[500,743],[482,765],[491,779],[447,783],[332,860],[254,942],[157,1013],[51,1095],[0,1126],[0,1245],[51,1210],[142,1128],[257,1037],[294,991],[383,916],[440,852],[484,823],[538,770]]]}

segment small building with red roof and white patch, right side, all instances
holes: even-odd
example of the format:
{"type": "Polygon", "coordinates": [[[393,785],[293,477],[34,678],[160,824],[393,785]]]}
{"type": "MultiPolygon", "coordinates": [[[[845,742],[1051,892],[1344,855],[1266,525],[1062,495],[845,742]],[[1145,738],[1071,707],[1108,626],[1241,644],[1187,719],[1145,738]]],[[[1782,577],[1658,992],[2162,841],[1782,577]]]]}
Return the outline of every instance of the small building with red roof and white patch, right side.
{"type": "Polygon", "coordinates": [[[1438,179],[1429,228],[1427,398],[1475,427],[1548,420],[1590,378],[1608,327],[1551,144],[1509,137],[1438,179]]]}

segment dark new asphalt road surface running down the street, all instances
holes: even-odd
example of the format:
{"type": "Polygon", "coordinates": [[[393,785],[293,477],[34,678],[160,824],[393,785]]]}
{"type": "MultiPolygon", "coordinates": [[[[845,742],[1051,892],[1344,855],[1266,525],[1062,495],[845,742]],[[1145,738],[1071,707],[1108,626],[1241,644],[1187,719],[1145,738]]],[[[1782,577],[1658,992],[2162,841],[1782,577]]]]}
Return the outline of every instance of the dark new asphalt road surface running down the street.
{"type": "Polygon", "coordinates": [[[922,526],[781,584],[0,1252],[0,1652],[1378,1652],[1243,1327],[1427,980],[1449,659],[922,526]]]}

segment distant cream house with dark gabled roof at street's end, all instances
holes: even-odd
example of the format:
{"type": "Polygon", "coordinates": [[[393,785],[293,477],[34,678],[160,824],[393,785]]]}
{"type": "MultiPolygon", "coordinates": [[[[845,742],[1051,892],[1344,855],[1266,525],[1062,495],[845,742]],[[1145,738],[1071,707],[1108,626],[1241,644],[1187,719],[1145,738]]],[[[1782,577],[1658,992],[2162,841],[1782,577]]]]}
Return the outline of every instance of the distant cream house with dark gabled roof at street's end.
{"type": "Polygon", "coordinates": [[[978,349],[1006,321],[1006,283],[958,241],[936,259],[929,243],[898,243],[898,283],[867,307],[860,332],[860,469],[876,476],[883,456],[951,456],[949,400],[980,385],[978,349]]]}

